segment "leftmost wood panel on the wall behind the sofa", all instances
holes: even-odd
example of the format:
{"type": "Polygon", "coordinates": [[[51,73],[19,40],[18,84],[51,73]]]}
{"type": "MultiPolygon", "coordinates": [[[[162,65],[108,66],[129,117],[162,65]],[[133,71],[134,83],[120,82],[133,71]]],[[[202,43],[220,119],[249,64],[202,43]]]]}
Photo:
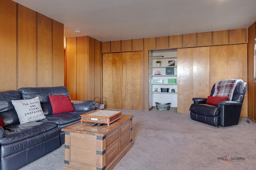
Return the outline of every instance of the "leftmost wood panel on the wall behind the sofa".
{"type": "Polygon", "coordinates": [[[0,5],[0,91],[16,90],[16,3],[0,5]]]}

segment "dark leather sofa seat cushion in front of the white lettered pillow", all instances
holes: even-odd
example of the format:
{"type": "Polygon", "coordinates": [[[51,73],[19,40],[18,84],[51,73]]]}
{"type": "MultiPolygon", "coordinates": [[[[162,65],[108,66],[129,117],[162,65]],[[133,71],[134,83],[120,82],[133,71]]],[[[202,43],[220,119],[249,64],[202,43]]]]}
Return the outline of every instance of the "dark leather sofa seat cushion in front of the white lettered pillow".
{"type": "MultiPolygon", "coordinates": [[[[0,145],[6,145],[34,137],[56,127],[52,122],[30,122],[4,127],[4,137],[0,138],[0,145]]],[[[38,139],[39,140],[39,139],[38,139]]]]}

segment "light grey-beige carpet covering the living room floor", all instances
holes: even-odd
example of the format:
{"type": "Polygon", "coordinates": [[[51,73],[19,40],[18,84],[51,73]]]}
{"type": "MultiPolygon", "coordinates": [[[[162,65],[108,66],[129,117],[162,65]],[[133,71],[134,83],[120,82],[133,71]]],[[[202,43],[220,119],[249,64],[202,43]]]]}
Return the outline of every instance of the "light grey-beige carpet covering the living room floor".
{"type": "MultiPolygon", "coordinates": [[[[134,115],[134,146],[114,170],[254,170],[256,124],[214,127],[172,111],[121,110],[134,115]],[[218,160],[230,156],[230,162],[218,160]],[[237,159],[243,160],[237,160],[237,159]],[[236,160],[235,160],[236,159],[236,160]]],[[[20,170],[61,170],[64,145],[20,170]]]]}

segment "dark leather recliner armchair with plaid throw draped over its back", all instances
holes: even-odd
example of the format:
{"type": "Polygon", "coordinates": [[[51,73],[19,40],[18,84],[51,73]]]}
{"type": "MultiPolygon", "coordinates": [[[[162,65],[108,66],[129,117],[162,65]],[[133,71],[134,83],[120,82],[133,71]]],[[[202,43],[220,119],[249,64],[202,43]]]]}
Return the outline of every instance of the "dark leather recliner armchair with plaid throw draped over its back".
{"type": "MultiPolygon", "coordinates": [[[[215,84],[211,94],[214,94],[215,84]]],[[[218,106],[206,104],[207,98],[193,98],[194,104],[190,106],[190,118],[196,121],[214,126],[237,125],[242,109],[242,103],[246,92],[247,83],[238,82],[234,90],[232,101],[226,100],[218,103],[218,106]]]]}

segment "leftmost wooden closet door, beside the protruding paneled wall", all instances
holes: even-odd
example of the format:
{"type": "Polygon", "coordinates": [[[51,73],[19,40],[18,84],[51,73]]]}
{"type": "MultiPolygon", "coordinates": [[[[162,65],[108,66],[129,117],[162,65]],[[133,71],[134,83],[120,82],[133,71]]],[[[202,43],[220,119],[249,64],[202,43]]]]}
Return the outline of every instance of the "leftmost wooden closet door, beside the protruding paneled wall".
{"type": "Polygon", "coordinates": [[[122,109],[122,53],[103,54],[102,71],[106,107],[122,109]]]}

